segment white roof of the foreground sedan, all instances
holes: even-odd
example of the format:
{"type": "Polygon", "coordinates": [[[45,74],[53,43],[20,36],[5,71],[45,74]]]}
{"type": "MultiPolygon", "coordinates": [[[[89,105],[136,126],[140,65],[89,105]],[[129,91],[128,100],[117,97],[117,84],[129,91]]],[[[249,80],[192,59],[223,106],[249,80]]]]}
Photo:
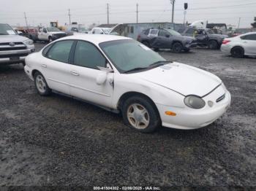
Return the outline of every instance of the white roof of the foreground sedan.
{"type": "Polygon", "coordinates": [[[127,40],[130,38],[127,38],[124,36],[108,35],[108,34],[75,34],[72,36],[67,36],[67,37],[58,39],[57,41],[64,40],[64,39],[84,40],[94,44],[99,44],[102,42],[110,42],[115,40],[127,40]]]}

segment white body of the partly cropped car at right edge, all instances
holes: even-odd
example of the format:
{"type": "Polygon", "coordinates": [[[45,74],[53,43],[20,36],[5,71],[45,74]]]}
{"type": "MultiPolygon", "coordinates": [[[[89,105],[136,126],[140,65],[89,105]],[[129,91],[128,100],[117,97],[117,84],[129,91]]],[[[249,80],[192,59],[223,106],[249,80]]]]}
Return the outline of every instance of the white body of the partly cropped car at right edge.
{"type": "Polygon", "coordinates": [[[232,38],[227,38],[224,40],[228,40],[227,44],[222,44],[221,50],[225,54],[230,55],[230,51],[233,47],[243,47],[244,48],[244,55],[256,55],[256,40],[247,40],[247,39],[241,39],[241,36],[246,36],[248,34],[256,34],[256,32],[250,32],[246,34],[241,34],[239,36],[235,36],[232,38]]]}

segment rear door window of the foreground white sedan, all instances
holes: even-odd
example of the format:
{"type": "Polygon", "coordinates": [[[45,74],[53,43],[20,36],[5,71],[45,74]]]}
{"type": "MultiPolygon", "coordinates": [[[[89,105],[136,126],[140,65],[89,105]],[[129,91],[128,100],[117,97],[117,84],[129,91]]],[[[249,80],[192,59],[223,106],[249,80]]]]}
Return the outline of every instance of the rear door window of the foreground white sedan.
{"type": "Polygon", "coordinates": [[[72,40],[56,42],[48,51],[46,57],[63,63],[69,62],[69,53],[72,47],[72,40]]]}

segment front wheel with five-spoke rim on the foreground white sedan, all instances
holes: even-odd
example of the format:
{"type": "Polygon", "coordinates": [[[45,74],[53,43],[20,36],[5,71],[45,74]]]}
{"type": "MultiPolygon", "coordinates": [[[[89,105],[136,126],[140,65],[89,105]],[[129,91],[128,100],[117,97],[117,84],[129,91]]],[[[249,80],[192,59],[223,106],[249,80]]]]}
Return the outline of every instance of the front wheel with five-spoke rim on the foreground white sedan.
{"type": "Polygon", "coordinates": [[[124,101],[121,112],[125,124],[141,133],[153,132],[161,122],[154,103],[143,96],[128,98],[124,101]]]}

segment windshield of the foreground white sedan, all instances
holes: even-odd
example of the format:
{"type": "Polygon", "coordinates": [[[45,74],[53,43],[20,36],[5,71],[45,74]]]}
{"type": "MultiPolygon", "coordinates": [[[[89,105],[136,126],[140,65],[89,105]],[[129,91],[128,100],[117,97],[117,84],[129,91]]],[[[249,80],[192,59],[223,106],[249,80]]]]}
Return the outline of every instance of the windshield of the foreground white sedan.
{"type": "Polygon", "coordinates": [[[162,56],[135,40],[116,40],[99,44],[121,73],[151,69],[166,62],[162,56]]]}

